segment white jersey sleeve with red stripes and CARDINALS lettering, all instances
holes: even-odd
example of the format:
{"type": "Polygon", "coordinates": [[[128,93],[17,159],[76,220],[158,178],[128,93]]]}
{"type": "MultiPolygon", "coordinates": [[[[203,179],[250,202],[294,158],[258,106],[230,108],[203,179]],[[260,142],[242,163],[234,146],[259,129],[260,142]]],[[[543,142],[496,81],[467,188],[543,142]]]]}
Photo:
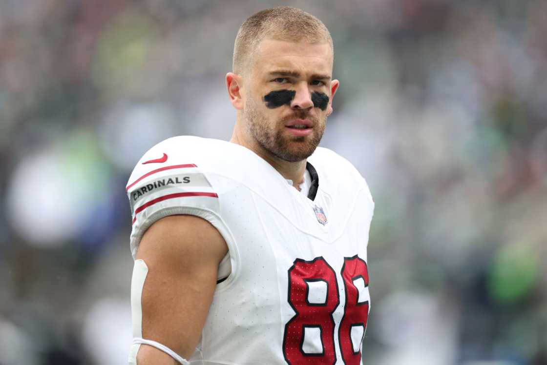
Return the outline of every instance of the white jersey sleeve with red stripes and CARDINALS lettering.
{"type": "Polygon", "coordinates": [[[177,148],[181,143],[176,143],[176,138],[167,139],[147,151],[127,182],[133,258],[148,227],[168,215],[199,216],[221,234],[226,231],[219,215],[217,192],[196,163],[195,153],[177,148]]]}

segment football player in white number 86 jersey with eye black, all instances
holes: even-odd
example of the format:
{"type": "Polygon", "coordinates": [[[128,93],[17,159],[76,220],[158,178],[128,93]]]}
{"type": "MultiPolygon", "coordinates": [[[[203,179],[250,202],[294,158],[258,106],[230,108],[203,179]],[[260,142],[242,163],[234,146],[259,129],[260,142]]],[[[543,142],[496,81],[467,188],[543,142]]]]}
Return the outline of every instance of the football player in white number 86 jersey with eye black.
{"type": "Polygon", "coordinates": [[[374,202],[318,148],[339,81],[315,16],[281,7],[237,33],[230,142],[173,137],[127,184],[130,363],[361,364],[374,202]]]}

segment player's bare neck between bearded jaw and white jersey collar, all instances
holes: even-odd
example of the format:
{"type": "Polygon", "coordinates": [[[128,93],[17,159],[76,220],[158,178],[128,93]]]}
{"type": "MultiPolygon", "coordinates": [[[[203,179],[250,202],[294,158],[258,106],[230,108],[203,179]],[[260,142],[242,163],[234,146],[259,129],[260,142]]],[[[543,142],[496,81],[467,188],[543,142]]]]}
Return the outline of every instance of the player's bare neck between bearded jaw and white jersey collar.
{"type": "Polygon", "coordinates": [[[237,133],[237,128],[232,133],[231,143],[241,145],[253,151],[255,154],[263,158],[267,163],[274,167],[278,173],[287,180],[293,181],[293,186],[300,191],[300,185],[304,182],[304,173],[306,171],[306,160],[289,162],[282,160],[281,158],[272,155],[269,151],[266,151],[257,142],[249,143],[245,138],[237,133]]]}

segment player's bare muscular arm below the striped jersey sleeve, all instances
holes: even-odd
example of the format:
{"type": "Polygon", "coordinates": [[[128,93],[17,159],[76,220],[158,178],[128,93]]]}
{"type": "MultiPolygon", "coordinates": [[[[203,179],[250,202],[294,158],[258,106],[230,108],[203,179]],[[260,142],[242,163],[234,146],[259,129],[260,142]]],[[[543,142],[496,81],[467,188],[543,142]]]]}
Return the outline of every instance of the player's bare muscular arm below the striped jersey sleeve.
{"type": "MultiPolygon", "coordinates": [[[[142,335],[188,359],[196,348],[228,252],[220,233],[196,216],[174,215],[144,234],[136,259],[148,266],[142,291],[142,335]]],[[[138,365],[173,365],[174,359],[141,345],[138,365]]]]}

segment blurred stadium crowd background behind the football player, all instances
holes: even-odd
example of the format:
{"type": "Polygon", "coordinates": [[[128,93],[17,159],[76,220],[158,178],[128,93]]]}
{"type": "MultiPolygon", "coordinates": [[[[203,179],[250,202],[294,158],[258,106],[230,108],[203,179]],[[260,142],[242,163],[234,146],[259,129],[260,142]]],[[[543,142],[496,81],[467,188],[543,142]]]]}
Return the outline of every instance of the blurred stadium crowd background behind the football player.
{"type": "Polygon", "coordinates": [[[376,201],[370,365],[547,364],[547,2],[0,3],[0,364],[121,364],[125,184],[150,146],[229,139],[238,26],[333,34],[323,146],[376,201]]]}

